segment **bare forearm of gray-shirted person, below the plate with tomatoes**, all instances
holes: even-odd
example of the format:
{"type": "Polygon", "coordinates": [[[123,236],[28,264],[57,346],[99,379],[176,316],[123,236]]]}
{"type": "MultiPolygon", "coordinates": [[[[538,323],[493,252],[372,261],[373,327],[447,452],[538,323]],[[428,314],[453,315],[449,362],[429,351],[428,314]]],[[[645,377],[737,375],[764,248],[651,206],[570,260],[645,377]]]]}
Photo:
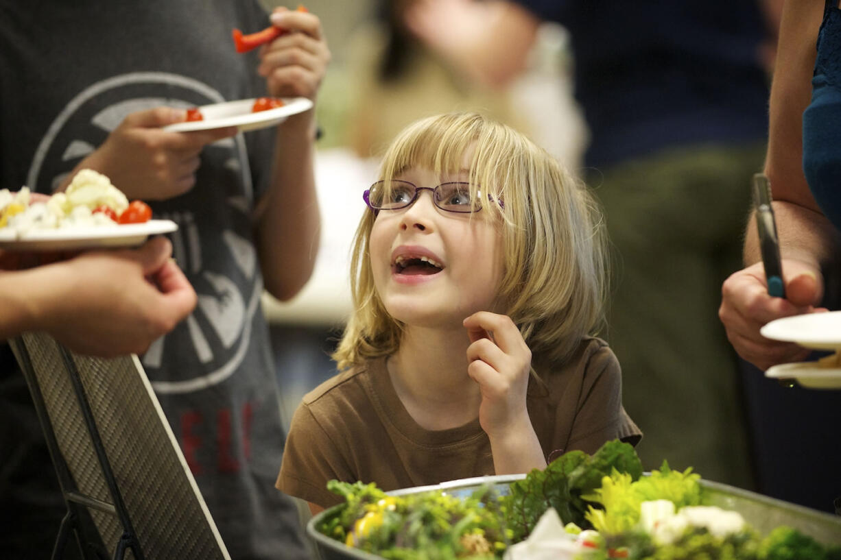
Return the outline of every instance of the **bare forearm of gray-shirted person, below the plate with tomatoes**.
{"type": "Polygon", "coordinates": [[[315,190],[315,117],[310,110],[278,129],[272,186],[257,208],[257,251],[269,293],[294,297],[315,267],[320,210],[315,190]]]}

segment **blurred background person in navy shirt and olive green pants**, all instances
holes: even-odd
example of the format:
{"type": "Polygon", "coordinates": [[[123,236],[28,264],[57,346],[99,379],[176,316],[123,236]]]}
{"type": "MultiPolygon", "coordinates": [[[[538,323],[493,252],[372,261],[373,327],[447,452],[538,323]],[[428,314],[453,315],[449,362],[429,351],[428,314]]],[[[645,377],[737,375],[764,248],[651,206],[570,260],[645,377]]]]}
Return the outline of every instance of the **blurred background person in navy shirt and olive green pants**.
{"type": "Polygon", "coordinates": [[[608,341],[623,402],[646,433],[637,451],[645,468],[666,459],[748,489],[738,361],[716,311],[723,279],[740,266],[764,155],[774,8],[418,0],[406,19],[439,55],[497,84],[520,71],[542,20],[569,30],[590,128],[585,178],[619,259],[608,341]]]}

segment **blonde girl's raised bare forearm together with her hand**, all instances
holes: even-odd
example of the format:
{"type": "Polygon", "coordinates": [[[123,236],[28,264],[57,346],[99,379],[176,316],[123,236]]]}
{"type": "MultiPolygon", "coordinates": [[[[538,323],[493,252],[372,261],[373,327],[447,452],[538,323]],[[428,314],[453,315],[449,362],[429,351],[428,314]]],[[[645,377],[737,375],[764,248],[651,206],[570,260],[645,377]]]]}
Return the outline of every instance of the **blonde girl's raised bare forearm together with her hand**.
{"type": "Polygon", "coordinates": [[[496,474],[545,468],[546,457],[526,409],[532,351],[507,315],[479,311],[464,320],[468,375],[482,391],[479,424],[488,434],[496,474]]]}

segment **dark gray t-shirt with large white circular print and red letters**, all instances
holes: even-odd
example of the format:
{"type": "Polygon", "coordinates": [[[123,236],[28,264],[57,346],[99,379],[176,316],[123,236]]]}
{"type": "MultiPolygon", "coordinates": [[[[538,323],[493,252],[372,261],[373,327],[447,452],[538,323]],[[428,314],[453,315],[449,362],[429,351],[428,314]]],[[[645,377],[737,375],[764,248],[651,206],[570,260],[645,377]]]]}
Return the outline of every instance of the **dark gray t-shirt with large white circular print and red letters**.
{"type": "MultiPolygon", "coordinates": [[[[0,188],[50,193],[132,112],[264,94],[256,53],[237,54],[230,32],[267,24],[240,0],[0,0],[0,188]]],[[[173,256],[198,306],[141,361],[237,560],[306,556],[274,488],[284,431],[252,239],[273,134],[207,146],[195,188],[151,203],[179,226],[173,256]]]]}

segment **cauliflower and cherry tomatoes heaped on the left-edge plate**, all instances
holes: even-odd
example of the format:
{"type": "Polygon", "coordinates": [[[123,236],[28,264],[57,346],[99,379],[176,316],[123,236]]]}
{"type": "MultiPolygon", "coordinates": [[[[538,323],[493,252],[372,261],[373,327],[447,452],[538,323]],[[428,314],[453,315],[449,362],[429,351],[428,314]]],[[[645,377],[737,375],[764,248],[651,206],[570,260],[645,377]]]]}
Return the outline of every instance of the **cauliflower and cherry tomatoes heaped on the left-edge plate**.
{"type": "Polygon", "coordinates": [[[17,193],[0,190],[0,228],[17,235],[30,230],[140,224],[149,219],[148,204],[140,200],[129,203],[108,177],[91,169],[77,172],[64,193],[44,202],[33,201],[27,187],[17,193]]]}

